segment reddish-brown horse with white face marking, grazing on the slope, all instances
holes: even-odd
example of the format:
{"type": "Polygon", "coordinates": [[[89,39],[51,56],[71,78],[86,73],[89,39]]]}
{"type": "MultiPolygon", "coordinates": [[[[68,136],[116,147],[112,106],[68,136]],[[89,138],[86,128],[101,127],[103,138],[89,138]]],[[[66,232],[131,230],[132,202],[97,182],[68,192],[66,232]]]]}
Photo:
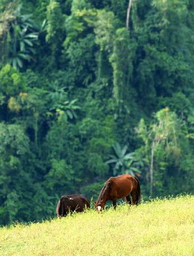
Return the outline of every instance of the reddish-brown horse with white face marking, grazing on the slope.
{"type": "Polygon", "coordinates": [[[141,199],[140,184],[136,177],[124,174],[118,177],[110,177],[100,191],[95,209],[101,211],[108,200],[113,201],[113,207],[117,207],[117,199],[126,198],[128,204],[139,204],[141,199]],[[131,198],[132,202],[131,202],[131,198]]]}

